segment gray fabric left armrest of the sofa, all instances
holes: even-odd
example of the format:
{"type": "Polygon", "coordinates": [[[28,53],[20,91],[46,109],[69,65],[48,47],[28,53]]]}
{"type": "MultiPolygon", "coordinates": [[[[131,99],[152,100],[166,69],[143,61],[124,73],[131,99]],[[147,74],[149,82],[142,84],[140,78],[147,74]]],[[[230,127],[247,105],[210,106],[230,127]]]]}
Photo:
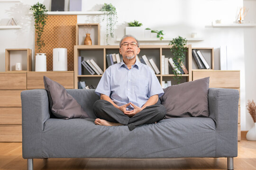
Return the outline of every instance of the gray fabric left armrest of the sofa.
{"type": "Polygon", "coordinates": [[[23,158],[42,158],[42,132],[50,118],[46,90],[21,92],[22,105],[22,155],[23,158]]]}

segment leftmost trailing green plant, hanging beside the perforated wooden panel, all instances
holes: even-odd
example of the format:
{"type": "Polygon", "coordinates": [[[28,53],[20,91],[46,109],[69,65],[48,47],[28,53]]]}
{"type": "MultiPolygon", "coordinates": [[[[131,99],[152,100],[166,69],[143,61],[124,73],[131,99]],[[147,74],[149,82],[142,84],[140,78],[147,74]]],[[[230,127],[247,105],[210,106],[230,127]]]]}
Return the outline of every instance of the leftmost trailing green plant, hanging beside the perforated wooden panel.
{"type": "Polygon", "coordinates": [[[44,32],[44,27],[46,26],[46,19],[47,19],[47,11],[46,6],[37,2],[30,8],[33,10],[33,15],[35,18],[35,29],[37,33],[37,46],[38,52],[40,53],[41,48],[45,46],[44,40],[42,40],[42,34],[44,32]]]}

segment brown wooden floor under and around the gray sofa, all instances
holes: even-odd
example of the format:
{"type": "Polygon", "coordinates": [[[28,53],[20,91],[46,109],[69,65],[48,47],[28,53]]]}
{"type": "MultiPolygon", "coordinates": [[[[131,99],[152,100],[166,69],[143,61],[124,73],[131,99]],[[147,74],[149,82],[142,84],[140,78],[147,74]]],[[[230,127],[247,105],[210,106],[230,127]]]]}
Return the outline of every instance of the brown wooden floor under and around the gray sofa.
{"type": "MultiPolygon", "coordinates": [[[[227,158],[34,159],[34,170],[225,170],[227,158]]],[[[27,170],[21,143],[0,143],[0,170],[27,170]]],[[[234,170],[256,170],[256,141],[238,142],[234,170]]]]}

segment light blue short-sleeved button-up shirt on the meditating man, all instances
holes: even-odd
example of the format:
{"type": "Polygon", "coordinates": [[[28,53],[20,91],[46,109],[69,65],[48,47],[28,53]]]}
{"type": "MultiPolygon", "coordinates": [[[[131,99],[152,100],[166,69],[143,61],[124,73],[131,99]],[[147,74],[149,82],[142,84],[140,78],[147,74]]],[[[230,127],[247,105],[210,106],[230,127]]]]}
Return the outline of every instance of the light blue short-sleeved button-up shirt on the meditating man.
{"type": "Polygon", "coordinates": [[[147,65],[136,60],[128,69],[123,60],[106,69],[95,90],[99,96],[105,94],[118,106],[132,102],[142,107],[152,95],[164,94],[155,73],[147,65]]]}

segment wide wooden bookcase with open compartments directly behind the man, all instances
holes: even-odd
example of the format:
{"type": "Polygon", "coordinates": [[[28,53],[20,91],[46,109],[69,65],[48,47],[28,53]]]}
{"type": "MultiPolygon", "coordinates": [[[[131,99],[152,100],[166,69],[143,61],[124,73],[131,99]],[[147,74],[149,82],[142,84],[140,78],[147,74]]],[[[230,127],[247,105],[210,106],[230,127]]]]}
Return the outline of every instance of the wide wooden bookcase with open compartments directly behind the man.
{"type": "MultiPolygon", "coordinates": [[[[174,80],[174,74],[163,75],[161,73],[161,56],[172,57],[170,45],[140,45],[139,58],[146,55],[148,59],[153,59],[156,66],[160,70],[160,74],[156,75],[160,84],[163,80],[174,80]]],[[[192,81],[192,52],[191,45],[186,45],[188,52],[186,53],[185,67],[189,73],[182,75],[182,82],[192,81]]],[[[107,69],[106,54],[119,53],[118,45],[76,45],[74,46],[74,88],[78,88],[78,81],[85,81],[88,85],[97,86],[102,75],[78,75],[78,57],[81,56],[84,60],[94,59],[99,67],[105,71],[107,69]]],[[[169,67],[169,73],[172,73],[172,68],[169,67]]],[[[175,82],[175,81],[174,81],[175,82]]],[[[175,83],[174,83],[175,84],[175,83]]]]}

